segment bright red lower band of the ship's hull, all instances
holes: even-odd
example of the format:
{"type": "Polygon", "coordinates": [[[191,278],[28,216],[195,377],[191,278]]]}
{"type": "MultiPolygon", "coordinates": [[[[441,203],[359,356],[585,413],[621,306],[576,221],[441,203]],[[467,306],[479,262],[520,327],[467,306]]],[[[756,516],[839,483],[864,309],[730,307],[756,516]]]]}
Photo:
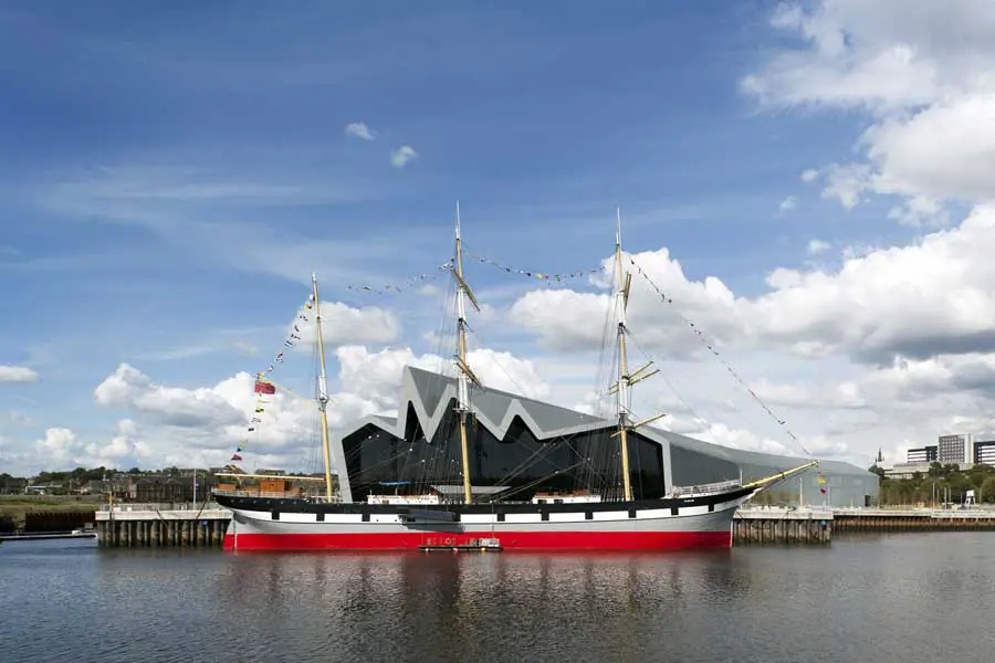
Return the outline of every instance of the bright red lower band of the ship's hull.
{"type": "MultiPolygon", "coordinates": [[[[490,533],[421,534],[226,534],[226,550],[418,550],[469,546],[490,533]],[[238,541],[235,541],[238,537],[238,541]]],[[[731,532],[520,532],[501,533],[504,550],[681,550],[730,548],[731,532]]]]}

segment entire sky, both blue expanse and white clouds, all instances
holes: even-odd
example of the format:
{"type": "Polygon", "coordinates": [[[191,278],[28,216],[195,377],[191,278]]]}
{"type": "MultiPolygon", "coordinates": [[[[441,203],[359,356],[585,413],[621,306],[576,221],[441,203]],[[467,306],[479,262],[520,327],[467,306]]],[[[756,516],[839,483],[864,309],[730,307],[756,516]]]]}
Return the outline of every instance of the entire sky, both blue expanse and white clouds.
{"type": "Polygon", "coordinates": [[[451,371],[457,201],[486,386],[601,402],[618,210],[637,417],[995,438],[993,38],[986,0],[0,2],[0,472],[315,469],[252,376],[312,272],[333,433],[451,371]]]}

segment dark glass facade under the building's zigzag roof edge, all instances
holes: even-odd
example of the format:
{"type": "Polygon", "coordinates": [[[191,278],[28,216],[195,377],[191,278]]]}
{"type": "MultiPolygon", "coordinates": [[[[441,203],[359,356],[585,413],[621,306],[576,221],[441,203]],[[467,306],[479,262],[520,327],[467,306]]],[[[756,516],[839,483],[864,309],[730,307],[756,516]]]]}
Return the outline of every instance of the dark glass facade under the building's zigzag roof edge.
{"type": "MultiPolygon", "coordinates": [[[[431,440],[426,440],[413,409],[405,438],[366,425],[343,440],[353,499],[370,492],[420,493],[431,485],[462,483],[459,421],[450,402],[431,440]]],[[[589,490],[606,499],[621,497],[621,456],[614,429],[538,441],[515,418],[504,439],[496,439],[475,418],[467,427],[471,484],[510,486],[509,499],[528,499],[538,490],[589,490]]],[[[666,494],[663,455],[659,444],[629,435],[629,466],[633,497],[666,494]]]]}

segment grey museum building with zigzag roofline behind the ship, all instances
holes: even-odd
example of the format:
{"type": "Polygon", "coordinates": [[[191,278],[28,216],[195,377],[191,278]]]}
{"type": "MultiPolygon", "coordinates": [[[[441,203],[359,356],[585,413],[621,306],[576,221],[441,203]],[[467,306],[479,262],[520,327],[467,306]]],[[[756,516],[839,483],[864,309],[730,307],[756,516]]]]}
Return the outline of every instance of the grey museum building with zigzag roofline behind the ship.
{"type": "MultiPolygon", "coordinates": [[[[468,448],[474,495],[517,501],[531,499],[537,491],[588,491],[605,499],[621,497],[616,420],[490,388],[472,389],[470,400],[468,448]]],[[[406,367],[397,418],[368,417],[333,436],[333,457],[345,460],[345,467],[336,467],[342,498],[360,502],[371,493],[426,490],[462,495],[455,402],[454,378],[406,367]]],[[[748,482],[807,460],[741,451],[651,427],[631,432],[628,448],[637,499],[663,497],[675,486],[748,482]]],[[[820,461],[769,495],[790,504],[800,499],[866,506],[877,501],[878,476],[849,463],[820,461]]]]}

